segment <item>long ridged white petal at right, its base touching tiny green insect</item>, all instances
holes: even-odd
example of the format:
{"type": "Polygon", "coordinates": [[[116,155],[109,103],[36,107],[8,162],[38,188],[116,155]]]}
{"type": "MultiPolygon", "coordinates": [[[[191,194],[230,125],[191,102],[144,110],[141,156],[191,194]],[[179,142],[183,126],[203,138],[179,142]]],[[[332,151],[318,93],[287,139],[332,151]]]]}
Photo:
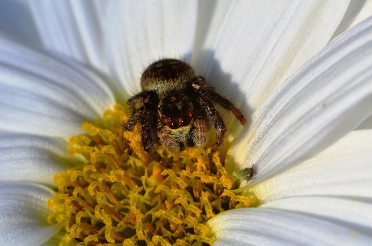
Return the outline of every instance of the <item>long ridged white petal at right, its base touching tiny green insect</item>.
{"type": "Polygon", "coordinates": [[[285,81],[235,138],[235,162],[256,180],[309,158],[372,113],[372,18],[341,35],[285,81]],[[295,162],[296,161],[296,162],[295,162]]]}

